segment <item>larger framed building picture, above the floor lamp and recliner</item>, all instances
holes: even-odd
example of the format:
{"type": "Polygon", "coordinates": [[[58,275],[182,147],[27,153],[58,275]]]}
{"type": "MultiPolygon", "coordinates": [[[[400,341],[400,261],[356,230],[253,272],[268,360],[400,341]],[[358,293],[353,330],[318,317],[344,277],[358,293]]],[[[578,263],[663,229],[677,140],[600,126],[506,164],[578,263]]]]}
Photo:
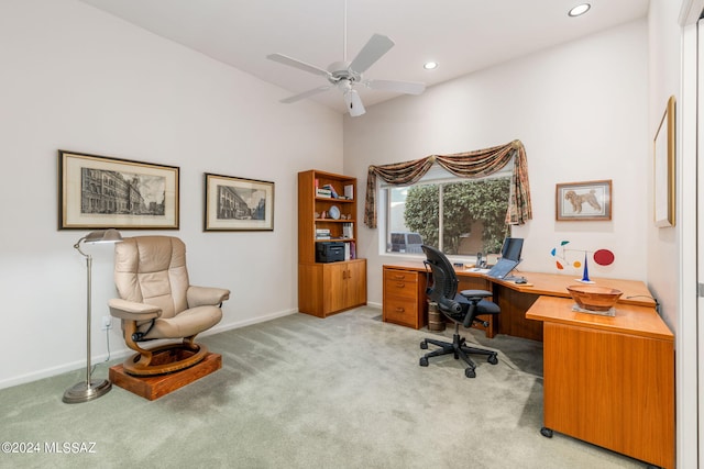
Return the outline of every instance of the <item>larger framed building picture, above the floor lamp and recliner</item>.
{"type": "Polygon", "coordinates": [[[59,230],[178,230],[179,168],[58,150],[59,230]]]}

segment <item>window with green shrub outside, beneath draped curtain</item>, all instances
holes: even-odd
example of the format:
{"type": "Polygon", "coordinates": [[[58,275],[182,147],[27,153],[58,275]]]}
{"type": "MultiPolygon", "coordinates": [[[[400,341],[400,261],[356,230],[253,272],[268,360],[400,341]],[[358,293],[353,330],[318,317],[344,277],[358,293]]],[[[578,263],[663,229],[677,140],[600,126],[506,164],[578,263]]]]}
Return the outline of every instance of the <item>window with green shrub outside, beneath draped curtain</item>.
{"type": "Polygon", "coordinates": [[[458,178],[433,167],[416,185],[383,185],[386,253],[422,254],[437,246],[448,255],[501,253],[513,165],[486,178],[458,178]]]}

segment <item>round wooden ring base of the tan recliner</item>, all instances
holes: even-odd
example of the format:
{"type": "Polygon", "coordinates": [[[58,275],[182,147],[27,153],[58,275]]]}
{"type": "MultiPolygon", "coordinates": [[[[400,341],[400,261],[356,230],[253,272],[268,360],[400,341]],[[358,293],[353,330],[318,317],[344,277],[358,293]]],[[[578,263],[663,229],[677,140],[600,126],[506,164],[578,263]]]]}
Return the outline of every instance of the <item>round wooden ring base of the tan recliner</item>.
{"type": "Polygon", "coordinates": [[[143,349],[129,357],[122,366],[133,376],[166,375],[190,368],[202,361],[208,355],[205,345],[175,343],[151,349],[143,349]]]}

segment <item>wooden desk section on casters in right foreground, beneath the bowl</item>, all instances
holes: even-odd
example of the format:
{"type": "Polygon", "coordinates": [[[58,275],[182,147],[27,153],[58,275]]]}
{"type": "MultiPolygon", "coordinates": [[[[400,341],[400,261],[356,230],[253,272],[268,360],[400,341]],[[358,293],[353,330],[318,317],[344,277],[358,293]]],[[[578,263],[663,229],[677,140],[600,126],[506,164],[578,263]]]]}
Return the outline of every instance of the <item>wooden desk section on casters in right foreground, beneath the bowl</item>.
{"type": "Polygon", "coordinates": [[[540,297],[526,313],[543,339],[543,422],[552,431],[674,468],[674,337],[653,308],[616,316],[540,297]]]}

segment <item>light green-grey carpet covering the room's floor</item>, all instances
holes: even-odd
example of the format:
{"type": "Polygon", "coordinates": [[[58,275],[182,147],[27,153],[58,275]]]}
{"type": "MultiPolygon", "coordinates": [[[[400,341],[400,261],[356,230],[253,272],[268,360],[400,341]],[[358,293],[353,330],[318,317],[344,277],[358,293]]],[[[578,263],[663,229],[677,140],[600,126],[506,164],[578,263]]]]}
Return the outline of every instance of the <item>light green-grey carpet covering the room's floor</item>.
{"type": "Polygon", "coordinates": [[[156,401],[113,387],[96,401],[64,404],[81,370],[3,389],[0,440],[36,443],[38,451],[0,454],[0,467],[644,466],[540,435],[540,343],[473,330],[468,340],[497,349],[499,362],[477,358],[468,379],[452,356],[418,366],[420,340],[437,334],[384,323],[374,308],[326,320],[294,314],[202,337],[222,369],[156,401]],[[77,445],[47,451],[64,443],[77,445]],[[91,443],[85,453],[80,444],[91,443]]]}

